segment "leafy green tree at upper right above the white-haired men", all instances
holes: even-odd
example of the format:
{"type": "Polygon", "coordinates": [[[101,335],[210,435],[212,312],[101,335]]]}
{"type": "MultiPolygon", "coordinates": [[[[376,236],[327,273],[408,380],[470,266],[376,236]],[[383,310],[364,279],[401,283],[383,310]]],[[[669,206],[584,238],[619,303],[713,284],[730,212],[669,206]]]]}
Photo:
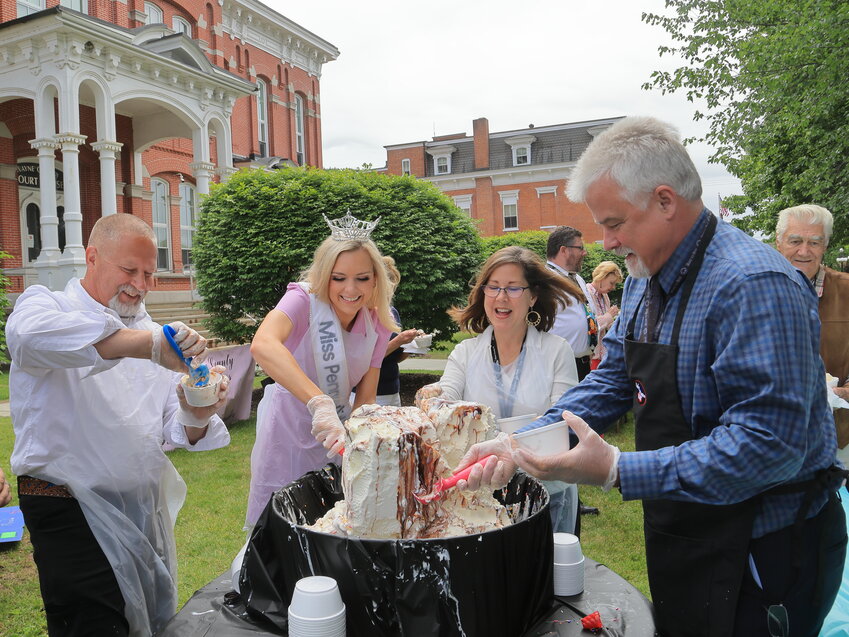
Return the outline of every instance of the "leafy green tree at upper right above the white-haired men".
{"type": "Polygon", "coordinates": [[[643,14],[672,36],[661,55],[684,65],[656,71],[644,88],[704,100],[700,140],[712,160],[740,178],[729,197],[734,223],[771,233],[782,208],[818,203],[835,214],[832,245],[849,223],[849,3],[822,0],[667,0],[665,14],[643,14]]]}

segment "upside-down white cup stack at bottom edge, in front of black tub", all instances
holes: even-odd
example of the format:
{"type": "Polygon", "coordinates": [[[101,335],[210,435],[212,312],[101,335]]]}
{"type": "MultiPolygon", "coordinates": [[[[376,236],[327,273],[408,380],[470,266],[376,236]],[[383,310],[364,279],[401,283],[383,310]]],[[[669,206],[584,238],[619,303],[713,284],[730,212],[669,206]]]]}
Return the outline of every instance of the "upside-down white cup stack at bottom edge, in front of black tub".
{"type": "Polygon", "coordinates": [[[289,604],[289,637],[345,637],[345,604],[335,579],[298,580],[289,604]]]}

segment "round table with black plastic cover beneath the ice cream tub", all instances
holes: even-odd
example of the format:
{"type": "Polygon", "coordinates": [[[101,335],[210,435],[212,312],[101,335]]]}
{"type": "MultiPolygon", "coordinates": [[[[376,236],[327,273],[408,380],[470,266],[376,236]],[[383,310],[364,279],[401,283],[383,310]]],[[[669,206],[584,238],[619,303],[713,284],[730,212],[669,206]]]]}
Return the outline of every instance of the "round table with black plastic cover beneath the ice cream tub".
{"type": "MultiPolygon", "coordinates": [[[[582,635],[581,617],[599,611],[604,629],[599,635],[653,637],[651,602],[626,580],[603,564],[589,558],[584,563],[584,592],[573,597],[555,597],[550,612],[524,637],[582,635]]],[[[270,624],[248,616],[245,605],[233,591],[230,573],[197,591],[157,637],[257,637],[281,635],[270,624]]],[[[415,637],[415,636],[413,636],[415,637]]],[[[510,637],[510,636],[505,636],[510,637]]]]}

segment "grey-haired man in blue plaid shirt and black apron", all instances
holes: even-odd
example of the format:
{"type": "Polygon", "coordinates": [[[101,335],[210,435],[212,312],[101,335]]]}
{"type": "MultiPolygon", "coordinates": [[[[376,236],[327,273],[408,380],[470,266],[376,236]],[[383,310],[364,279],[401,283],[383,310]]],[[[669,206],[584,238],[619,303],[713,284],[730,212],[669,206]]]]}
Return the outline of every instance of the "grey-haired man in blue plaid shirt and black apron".
{"type": "Polygon", "coordinates": [[[817,635],[846,522],[810,283],[705,209],[677,131],[658,120],[599,135],[568,194],[630,273],[607,358],[526,428],[562,418],[579,444],[542,457],[501,435],[458,469],[495,453],[468,486],[518,465],[642,500],[661,635],[817,635]],[[631,409],[637,451],[620,453],[596,431],[631,409]]]}

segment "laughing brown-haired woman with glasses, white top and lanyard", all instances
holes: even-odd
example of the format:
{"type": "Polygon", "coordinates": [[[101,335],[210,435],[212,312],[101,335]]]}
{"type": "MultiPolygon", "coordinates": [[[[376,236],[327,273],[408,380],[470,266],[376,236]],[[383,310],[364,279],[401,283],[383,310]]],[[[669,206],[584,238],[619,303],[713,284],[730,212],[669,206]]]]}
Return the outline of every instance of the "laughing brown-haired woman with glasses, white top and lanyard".
{"type": "MultiPolygon", "coordinates": [[[[439,381],[441,396],[488,405],[497,419],[545,413],[578,384],[572,348],[547,332],[561,305],[574,302],[568,280],[530,250],[511,246],[493,254],[468,305],[451,311],[461,329],[478,336],[454,348],[439,381]]],[[[574,532],[577,487],[544,484],[554,530],[574,532]]]]}

